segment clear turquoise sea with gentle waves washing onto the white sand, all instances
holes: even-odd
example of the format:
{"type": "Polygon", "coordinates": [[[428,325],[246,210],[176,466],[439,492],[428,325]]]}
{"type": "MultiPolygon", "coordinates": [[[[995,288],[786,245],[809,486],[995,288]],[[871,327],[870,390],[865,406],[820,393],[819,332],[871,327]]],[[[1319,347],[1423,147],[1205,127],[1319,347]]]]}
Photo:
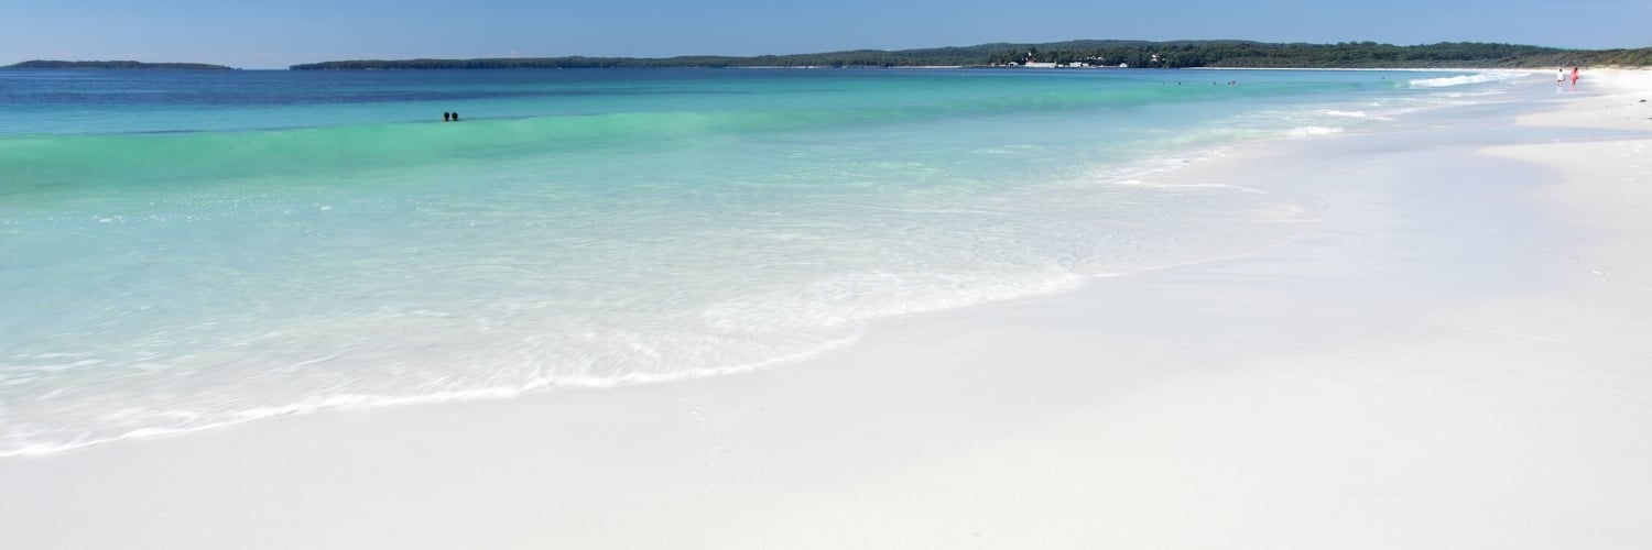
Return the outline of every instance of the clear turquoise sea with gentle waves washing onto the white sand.
{"type": "Polygon", "coordinates": [[[882,317],[1242,254],[1315,213],[1151,173],[1502,86],[0,71],[0,456],[733,373],[852,344],[882,317]]]}

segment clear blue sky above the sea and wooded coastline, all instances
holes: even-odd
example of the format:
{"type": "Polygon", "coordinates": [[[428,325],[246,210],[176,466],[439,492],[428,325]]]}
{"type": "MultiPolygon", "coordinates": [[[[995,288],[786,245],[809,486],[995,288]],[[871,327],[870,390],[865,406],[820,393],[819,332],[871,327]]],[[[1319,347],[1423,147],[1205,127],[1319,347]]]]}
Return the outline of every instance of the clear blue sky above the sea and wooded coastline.
{"type": "Polygon", "coordinates": [[[0,10],[0,64],[676,56],[1075,38],[1652,46],[1652,0],[36,0],[0,10]]]}

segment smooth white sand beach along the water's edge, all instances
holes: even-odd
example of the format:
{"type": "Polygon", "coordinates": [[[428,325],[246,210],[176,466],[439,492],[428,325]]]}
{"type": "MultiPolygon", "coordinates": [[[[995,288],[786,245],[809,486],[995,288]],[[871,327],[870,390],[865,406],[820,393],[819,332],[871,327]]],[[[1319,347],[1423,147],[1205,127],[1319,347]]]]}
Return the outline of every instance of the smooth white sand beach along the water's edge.
{"type": "Polygon", "coordinates": [[[1652,71],[1531,86],[1148,177],[1315,215],[1242,258],[747,375],[0,459],[0,547],[1647,548],[1652,71]]]}

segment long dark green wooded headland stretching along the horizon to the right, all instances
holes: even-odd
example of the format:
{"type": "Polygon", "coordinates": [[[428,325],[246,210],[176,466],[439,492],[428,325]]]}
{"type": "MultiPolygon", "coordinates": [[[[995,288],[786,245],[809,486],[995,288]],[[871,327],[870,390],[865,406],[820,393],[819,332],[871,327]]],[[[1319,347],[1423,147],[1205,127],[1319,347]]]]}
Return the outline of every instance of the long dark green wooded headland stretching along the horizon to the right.
{"type": "Polygon", "coordinates": [[[1652,66],[1652,48],[1559,50],[1500,43],[1394,46],[1373,41],[1307,45],[1244,40],[991,43],[922,50],[852,50],[765,56],[358,59],[294,64],[316,69],[585,69],[585,68],[1555,68],[1652,66]]]}

